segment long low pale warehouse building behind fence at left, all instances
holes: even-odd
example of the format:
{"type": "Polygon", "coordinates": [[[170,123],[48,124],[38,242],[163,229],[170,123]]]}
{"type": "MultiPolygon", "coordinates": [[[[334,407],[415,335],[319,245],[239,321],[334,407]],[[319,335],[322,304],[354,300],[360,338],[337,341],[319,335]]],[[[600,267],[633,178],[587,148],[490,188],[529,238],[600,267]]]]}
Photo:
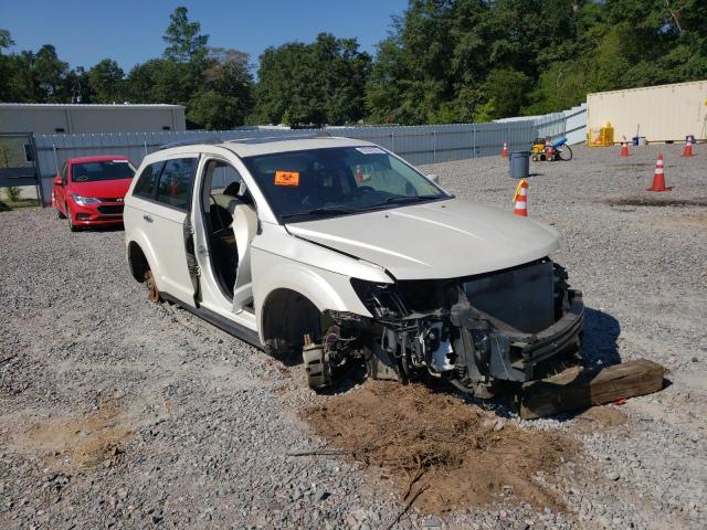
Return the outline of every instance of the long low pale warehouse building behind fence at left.
{"type": "Polygon", "coordinates": [[[0,103],[0,132],[75,135],[186,128],[182,105],[0,103]]]}

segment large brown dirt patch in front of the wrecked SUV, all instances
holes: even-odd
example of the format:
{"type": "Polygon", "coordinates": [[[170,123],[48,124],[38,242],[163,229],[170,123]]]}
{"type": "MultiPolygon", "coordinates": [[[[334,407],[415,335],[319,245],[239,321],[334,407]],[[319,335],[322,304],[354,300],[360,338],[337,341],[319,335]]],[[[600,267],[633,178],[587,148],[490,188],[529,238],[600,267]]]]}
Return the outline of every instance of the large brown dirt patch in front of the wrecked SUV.
{"type": "Polygon", "coordinates": [[[550,478],[577,452],[558,433],[524,431],[426,385],[369,381],[308,409],[319,436],[368,466],[382,467],[401,501],[428,513],[504,500],[553,511],[564,506],[550,478]]]}

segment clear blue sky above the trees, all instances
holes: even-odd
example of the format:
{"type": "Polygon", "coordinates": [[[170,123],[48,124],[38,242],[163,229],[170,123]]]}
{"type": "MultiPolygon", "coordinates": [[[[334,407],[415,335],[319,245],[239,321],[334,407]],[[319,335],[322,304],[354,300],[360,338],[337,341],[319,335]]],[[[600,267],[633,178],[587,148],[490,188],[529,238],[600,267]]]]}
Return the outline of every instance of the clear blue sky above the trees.
{"type": "Polygon", "coordinates": [[[54,44],[72,67],[89,68],[105,57],[115,59],[126,73],[137,63],[161,55],[162,34],[177,6],[201,22],[212,46],[234,47],[251,54],[251,63],[270,45],[310,42],[327,31],[358,38],[373,53],[388,35],[391,14],[401,14],[407,0],[161,0],[76,1],[0,0],[0,28],[9,30],[13,51],[36,51],[54,44]]]}

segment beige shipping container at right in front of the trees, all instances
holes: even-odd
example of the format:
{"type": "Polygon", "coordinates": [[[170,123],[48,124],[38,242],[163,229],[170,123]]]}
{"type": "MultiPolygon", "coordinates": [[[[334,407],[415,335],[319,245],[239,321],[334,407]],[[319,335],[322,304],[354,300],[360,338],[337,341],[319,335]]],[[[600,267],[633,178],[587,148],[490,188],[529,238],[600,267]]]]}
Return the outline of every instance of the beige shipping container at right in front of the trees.
{"type": "Polygon", "coordinates": [[[587,126],[610,123],[614,141],[636,136],[647,141],[707,139],[707,81],[647,86],[587,95],[587,126]]]}

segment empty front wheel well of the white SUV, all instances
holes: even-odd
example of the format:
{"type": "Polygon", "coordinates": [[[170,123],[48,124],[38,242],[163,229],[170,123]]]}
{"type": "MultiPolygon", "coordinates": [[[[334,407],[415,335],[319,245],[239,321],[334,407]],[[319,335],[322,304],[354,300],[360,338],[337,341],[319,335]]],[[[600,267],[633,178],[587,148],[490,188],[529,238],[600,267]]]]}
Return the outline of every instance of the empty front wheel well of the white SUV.
{"type": "Polygon", "coordinates": [[[305,333],[321,335],[321,314],[306,296],[292,289],[273,290],[263,305],[263,341],[277,356],[302,352],[305,333]]]}

